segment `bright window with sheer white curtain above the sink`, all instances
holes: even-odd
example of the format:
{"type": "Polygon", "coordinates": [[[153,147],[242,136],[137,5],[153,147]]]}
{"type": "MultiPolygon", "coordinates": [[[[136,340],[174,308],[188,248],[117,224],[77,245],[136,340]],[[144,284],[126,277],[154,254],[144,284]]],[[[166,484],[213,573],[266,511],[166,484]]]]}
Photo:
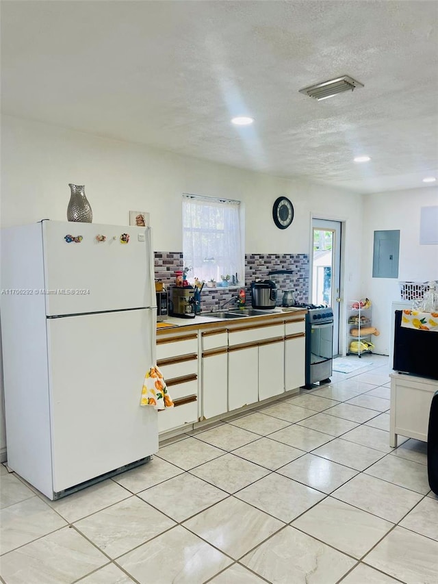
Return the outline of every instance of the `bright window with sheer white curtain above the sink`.
{"type": "Polygon", "coordinates": [[[184,265],[190,279],[220,281],[221,275],[244,283],[240,201],[183,194],[184,265]]]}

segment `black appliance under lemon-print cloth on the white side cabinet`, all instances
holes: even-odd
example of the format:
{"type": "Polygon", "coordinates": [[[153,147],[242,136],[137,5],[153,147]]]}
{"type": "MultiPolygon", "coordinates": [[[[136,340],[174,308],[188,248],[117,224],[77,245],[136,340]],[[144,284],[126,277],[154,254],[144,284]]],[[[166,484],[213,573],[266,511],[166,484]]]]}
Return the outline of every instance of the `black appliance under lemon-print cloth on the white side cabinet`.
{"type": "Polygon", "coordinates": [[[402,327],[402,310],[394,321],[394,364],[400,373],[438,379],[438,333],[402,327]]]}

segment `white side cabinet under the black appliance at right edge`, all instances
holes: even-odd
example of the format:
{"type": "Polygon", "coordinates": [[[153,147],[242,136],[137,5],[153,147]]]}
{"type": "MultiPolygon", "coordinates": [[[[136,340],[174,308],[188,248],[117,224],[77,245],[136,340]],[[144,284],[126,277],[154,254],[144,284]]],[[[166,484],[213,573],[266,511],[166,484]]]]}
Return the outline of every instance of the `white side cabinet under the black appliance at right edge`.
{"type": "MultiPolygon", "coordinates": [[[[432,333],[433,334],[433,333],[432,333]]],[[[389,446],[397,446],[398,434],[427,442],[430,404],[438,381],[392,373],[389,446]]]]}

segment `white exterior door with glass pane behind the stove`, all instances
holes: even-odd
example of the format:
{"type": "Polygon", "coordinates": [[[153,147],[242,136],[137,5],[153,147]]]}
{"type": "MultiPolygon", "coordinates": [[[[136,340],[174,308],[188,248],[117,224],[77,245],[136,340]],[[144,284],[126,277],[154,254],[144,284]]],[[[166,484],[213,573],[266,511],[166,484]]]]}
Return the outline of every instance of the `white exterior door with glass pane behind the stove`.
{"type": "Polygon", "coordinates": [[[342,223],[312,219],[311,301],[333,310],[333,357],[339,355],[342,223]]]}

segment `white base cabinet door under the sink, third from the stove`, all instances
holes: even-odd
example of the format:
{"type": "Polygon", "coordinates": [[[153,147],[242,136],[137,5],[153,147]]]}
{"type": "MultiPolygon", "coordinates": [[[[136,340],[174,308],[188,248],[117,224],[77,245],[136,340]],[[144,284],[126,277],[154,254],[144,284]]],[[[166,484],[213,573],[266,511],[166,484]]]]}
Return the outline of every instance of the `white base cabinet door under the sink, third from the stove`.
{"type": "Polygon", "coordinates": [[[259,398],[259,348],[250,346],[228,354],[229,410],[255,403],[259,398]]]}

